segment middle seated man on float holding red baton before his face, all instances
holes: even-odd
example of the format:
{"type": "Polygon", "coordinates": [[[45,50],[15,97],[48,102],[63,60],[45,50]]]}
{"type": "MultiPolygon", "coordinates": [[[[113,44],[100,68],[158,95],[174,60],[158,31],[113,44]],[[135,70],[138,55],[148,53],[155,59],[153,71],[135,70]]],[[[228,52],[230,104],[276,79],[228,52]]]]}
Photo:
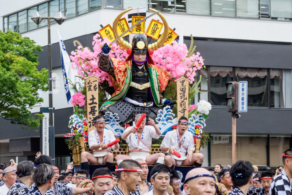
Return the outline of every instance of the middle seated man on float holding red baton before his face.
{"type": "MultiPolygon", "coordinates": [[[[138,114],[135,117],[135,125],[141,118],[142,114],[138,114]]],[[[150,155],[150,147],[152,144],[152,138],[158,139],[160,136],[160,129],[155,125],[155,122],[153,119],[148,120],[148,124],[145,126],[146,118],[142,121],[139,128],[136,126],[128,127],[124,131],[124,133],[121,135],[121,138],[126,140],[129,146],[129,156],[119,154],[116,156],[116,162],[117,165],[123,160],[126,159],[143,159],[148,163],[148,165],[154,165],[155,163],[161,163],[164,164],[164,153],[156,153],[150,155]]]]}

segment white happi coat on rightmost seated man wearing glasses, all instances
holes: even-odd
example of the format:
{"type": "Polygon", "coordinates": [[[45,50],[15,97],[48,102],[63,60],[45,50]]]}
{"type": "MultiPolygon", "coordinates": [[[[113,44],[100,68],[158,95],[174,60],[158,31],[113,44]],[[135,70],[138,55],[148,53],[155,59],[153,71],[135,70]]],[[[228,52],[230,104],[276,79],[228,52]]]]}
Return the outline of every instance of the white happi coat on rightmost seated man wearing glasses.
{"type": "Polygon", "coordinates": [[[177,156],[170,154],[169,152],[168,154],[171,155],[172,158],[174,158],[175,160],[183,161],[187,159],[186,155],[187,153],[189,153],[189,151],[191,150],[195,151],[196,149],[194,146],[194,136],[191,132],[185,131],[185,133],[181,137],[181,142],[187,148],[186,150],[184,149],[183,146],[180,146],[180,149],[178,148],[178,144],[180,143],[180,141],[178,140],[177,134],[178,134],[178,130],[167,132],[164,139],[162,140],[160,144],[160,149],[162,148],[162,146],[174,148],[175,151],[180,153],[181,157],[178,158],[177,156]]]}

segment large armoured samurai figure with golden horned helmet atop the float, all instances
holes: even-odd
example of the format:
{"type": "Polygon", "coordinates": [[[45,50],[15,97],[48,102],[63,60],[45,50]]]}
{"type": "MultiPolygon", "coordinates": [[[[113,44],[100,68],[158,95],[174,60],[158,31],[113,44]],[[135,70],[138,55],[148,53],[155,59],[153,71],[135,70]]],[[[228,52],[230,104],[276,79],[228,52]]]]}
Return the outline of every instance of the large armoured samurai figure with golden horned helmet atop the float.
{"type": "MultiPolygon", "coordinates": [[[[123,11],[113,23],[113,33],[119,36],[117,22],[129,10],[123,11]]],[[[101,112],[117,113],[121,124],[132,121],[135,114],[146,113],[147,118],[155,118],[160,106],[171,103],[164,99],[163,92],[168,83],[170,74],[166,70],[154,65],[151,58],[153,50],[163,45],[167,38],[168,25],[161,13],[159,17],[164,22],[164,33],[161,38],[152,44],[147,44],[144,34],[137,33],[132,44],[122,37],[117,44],[127,50],[129,57],[125,60],[109,58],[111,48],[108,44],[102,46],[103,54],[99,57],[98,67],[107,72],[113,84],[114,93],[101,107],[101,112]]]]}

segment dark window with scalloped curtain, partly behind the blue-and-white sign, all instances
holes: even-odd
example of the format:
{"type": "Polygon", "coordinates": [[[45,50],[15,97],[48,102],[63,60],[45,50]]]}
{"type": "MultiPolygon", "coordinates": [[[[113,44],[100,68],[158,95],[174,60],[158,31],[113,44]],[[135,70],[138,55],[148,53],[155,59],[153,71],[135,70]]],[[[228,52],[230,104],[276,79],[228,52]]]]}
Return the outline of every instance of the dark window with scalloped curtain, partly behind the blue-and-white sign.
{"type": "Polygon", "coordinates": [[[236,68],[237,81],[247,81],[247,106],[268,107],[267,69],[236,68]]]}

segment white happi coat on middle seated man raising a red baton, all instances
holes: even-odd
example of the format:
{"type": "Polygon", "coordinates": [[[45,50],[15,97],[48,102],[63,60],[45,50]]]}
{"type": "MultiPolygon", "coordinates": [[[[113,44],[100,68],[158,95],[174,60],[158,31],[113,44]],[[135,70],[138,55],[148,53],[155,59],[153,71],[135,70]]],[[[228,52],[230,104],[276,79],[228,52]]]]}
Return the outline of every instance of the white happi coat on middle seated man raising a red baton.
{"type": "MultiPolygon", "coordinates": [[[[133,126],[126,128],[126,131],[130,131],[133,126]]],[[[147,145],[151,146],[152,144],[152,138],[158,139],[160,135],[157,135],[154,127],[145,125],[144,130],[140,136],[141,140],[147,145]]],[[[142,143],[142,141],[139,141],[139,146],[138,146],[138,136],[137,133],[130,133],[128,137],[125,139],[126,142],[128,143],[129,150],[137,148],[138,150],[146,150],[150,151],[150,148],[145,146],[145,144],[142,143]]]]}

